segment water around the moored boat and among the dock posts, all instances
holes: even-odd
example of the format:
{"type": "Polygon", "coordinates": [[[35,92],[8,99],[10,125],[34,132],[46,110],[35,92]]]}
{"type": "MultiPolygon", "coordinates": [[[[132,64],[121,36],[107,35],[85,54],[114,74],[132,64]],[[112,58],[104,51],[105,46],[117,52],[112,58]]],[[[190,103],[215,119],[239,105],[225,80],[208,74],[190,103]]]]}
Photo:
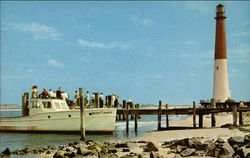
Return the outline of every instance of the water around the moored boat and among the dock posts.
{"type": "MultiPolygon", "coordinates": [[[[1,117],[21,116],[21,111],[15,111],[15,108],[6,111],[0,109],[1,117]]],[[[185,116],[169,116],[170,121],[184,119],[185,116]]],[[[166,122],[166,118],[162,117],[162,126],[166,122]]],[[[135,137],[143,136],[145,132],[157,130],[157,115],[144,115],[138,121],[138,133],[134,132],[134,121],[129,122],[129,135],[126,135],[126,122],[116,122],[116,129],[113,135],[86,135],[86,139],[95,141],[108,140],[127,140],[135,137]]],[[[3,133],[0,132],[0,151],[7,147],[12,151],[26,147],[43,147],[48,145],[66,145],[80,139],[79,134],[32,134],[32,133],[3,133]]]]}

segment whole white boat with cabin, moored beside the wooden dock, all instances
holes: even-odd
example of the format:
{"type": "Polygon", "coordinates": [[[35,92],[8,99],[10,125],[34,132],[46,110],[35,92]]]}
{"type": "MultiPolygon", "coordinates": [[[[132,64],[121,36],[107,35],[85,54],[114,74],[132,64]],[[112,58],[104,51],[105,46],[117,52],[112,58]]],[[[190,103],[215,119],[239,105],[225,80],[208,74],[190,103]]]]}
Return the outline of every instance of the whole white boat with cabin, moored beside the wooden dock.
{"type": "MultiPolygon", "coordinates": [[[[62,99],[29,99],[29,115],[2,117],[0,131],[80,132],[80,110],[69,109],[62,99]]],[[[86,132],[113,132],[115,108],[84,109],[86,132]]]]}

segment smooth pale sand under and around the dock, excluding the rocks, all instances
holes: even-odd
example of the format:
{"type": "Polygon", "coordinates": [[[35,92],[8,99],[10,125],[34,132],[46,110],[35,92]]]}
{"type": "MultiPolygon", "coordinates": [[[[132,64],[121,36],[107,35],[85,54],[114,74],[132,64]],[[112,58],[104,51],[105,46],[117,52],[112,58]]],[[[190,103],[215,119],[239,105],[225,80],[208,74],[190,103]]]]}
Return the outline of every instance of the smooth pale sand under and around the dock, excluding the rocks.
{"type": "MultiPolygon", "coordinates": [[[[211,115],[205,115],[203,118],[202,129],[185,129],[185,130],[168,130],[168,131],[155,131],[147,132],[143,137],[136,138],[136,140],[147,140],[155,143],[162,141],[169,141],[174,139],[192,138],[192,137],[204,137],[217,139],[218,137],[228,138],[231,136],[243,136],[247,132],[240,131],[239,129],[220,128],[221,125],[232,124],[233,117],[230,113],[217,114],[216,127],[211,127],[211,115]]],[[[198,123],[198,117],[196,117],[196,123],[198,123]]],[[[249,124],[249,118],[244,119],[245,124],[249,124]]],[[[170,122],[170,127],[192,127],[193,117],[188,116],[186,119],[170,122]]],[[[164,127],[164,125],[162,125],[164,127]]],[[[247,127],[246,127],[247,128],[247,127]]]]}

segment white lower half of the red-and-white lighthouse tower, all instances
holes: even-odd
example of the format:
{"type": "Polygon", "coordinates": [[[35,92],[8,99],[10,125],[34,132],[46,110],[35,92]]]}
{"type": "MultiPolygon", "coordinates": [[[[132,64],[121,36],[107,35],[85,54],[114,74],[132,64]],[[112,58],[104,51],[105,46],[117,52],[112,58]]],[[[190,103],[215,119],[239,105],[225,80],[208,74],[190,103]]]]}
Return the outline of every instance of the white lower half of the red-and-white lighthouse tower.
{"type": "Polygon", "coordinates": [[[231,98],[228,88],[227,59],[215,59],[214,61],[213,98],[216,102],[225,102],[231,98]]]}

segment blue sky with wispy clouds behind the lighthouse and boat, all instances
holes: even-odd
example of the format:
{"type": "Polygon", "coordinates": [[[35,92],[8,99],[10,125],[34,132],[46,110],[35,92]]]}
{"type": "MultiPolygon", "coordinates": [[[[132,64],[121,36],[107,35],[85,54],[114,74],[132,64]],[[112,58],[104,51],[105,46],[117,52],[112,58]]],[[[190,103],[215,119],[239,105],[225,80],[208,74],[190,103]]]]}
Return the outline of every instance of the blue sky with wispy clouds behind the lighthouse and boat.
{"type": "Polygon", "coordinates": [[[192,105],[213,90],[215,9],[226,11],[229,88],[250,100],[250,2],[1,1],[0,104],[37,85],[192,105]]]}

